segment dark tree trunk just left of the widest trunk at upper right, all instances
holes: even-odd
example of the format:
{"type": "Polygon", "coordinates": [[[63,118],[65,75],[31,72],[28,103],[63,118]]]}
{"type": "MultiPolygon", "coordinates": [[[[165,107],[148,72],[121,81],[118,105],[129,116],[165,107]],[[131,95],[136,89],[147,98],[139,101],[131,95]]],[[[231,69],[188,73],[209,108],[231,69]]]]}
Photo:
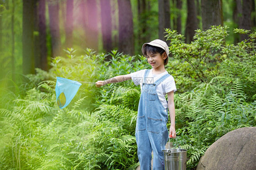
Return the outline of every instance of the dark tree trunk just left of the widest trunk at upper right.
{"type": "Polygon", "coordinates": [[[187,0],[187,10],[186,41],[187,43],[191,43],[193,41],[195,30],[198,29],[195,0],[187,0]]]}

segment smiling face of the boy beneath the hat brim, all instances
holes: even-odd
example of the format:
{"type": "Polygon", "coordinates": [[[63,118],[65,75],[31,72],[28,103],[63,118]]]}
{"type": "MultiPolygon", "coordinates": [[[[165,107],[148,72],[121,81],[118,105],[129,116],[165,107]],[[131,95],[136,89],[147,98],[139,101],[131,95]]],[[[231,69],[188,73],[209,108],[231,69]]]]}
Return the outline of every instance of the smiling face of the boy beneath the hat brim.
{"type": "Polygon", "coordinates": [[[164,54],[165,52],[162,55],[160,53],[147,52],[146,58],[152,68],[158,68],[159,66],[164,66],[164,59],[166,59],[164,54]]]}

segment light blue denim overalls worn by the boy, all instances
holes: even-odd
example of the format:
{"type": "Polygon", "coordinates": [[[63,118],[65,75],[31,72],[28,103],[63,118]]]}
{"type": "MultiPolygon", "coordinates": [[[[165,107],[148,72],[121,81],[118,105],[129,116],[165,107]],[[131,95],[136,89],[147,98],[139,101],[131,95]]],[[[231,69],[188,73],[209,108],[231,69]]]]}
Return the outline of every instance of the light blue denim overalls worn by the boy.
{"type": "Polygon", "coordinates": [[[138,117],[136,122],[136,142],[138,145],[138,160],[140,170],[151,170],[151,152],[153,150],[153,170],[164,170],[165,144],[168,141],[168,112],[159,100],[156,86],[169,77],[165,74],[156,82],[149,82],[146,70],[143,77],[141,96],[138,105],[138,117]]]}

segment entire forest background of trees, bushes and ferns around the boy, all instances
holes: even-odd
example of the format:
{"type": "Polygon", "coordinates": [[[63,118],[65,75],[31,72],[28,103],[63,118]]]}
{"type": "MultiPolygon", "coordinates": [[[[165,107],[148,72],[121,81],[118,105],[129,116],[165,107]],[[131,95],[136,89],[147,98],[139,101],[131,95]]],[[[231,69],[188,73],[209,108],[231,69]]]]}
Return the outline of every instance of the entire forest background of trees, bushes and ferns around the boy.
{"type": "Polygon", "coordinates": [[[195,169],[221,136],[256,126],[255,15],[255,0],[0,0],[0,169],[136,169],[139,87],[83,84],[62,110],[54,88],[150,68],[153,39],[169,44],[195,169]]]}

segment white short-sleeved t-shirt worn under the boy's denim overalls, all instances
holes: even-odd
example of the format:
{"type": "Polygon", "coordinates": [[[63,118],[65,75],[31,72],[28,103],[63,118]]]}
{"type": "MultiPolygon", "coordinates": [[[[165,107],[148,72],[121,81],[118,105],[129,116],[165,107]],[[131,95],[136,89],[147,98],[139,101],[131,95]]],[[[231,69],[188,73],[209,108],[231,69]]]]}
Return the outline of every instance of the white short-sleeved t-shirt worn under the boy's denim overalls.
{"type": "MultiPolygon", "coordinates": [[[[152,74],[153,68],[148,73],[148,78],[152,78],[152,81],[150,83],[154,83],[157,79],[161,78],[165,74],[168,74],[168,72],[165,70],[164,73],[161,74],[152,74]]],[[[140,85],[140,89],[142,89],[142,83],[143,83],[143,76],[145,75],[146,69],[140,70],[134,73],[131,73],[131,77],[133,80],[133,83],[135,85],[140,85]]],[[[163,104],[164,108],[167,109],[168,104],[165,100],[165,95],[168,92],[176,91],[176,85],[173,76],[169,76],[166,78],[163,82],[161,82],[158,86],[156,86],[156,92],[159,97],[160,102],[163,104]]]]}

